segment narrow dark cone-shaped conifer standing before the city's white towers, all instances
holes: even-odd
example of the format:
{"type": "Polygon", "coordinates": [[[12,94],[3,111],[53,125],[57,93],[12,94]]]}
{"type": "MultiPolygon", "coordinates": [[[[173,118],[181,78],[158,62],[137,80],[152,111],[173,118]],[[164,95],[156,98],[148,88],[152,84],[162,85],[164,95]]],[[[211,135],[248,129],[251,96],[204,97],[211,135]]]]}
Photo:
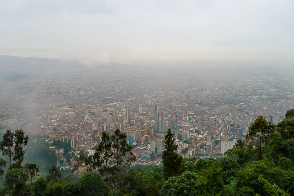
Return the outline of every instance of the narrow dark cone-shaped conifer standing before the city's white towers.
{"type": "Polygon", "coordinates": [[[182,156],[175,152],[178,149],[178,145],[175,144],[175,139],[170,128],[167,130],[164,143],[166,150],[162,154],[163,177],[168,179],[171,176],[180,174],[182,156]]]}

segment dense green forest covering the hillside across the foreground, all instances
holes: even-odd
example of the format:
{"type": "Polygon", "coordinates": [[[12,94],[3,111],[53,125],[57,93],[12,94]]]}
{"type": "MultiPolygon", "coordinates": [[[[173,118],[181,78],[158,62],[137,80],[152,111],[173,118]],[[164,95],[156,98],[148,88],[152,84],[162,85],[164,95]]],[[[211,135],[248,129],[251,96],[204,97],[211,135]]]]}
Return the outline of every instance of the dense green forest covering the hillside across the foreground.
{"type": "Polygon", "coordinates": [[[1,195],[294,195],[294,110],[276,125],[256,117],[246,140],[219,161],[183,158],[168,129],[163,167],[145,171],[130,167],[134,156],[126,135],[103,132],[93,156],[79,155],[73,170],[78,180],[61,177],[56,165],[46,168],[45,177],[35,163],[23,164],[28,140],[17,129],[6,130],[0,141],[7,158],[0,159],[1,195]]]}

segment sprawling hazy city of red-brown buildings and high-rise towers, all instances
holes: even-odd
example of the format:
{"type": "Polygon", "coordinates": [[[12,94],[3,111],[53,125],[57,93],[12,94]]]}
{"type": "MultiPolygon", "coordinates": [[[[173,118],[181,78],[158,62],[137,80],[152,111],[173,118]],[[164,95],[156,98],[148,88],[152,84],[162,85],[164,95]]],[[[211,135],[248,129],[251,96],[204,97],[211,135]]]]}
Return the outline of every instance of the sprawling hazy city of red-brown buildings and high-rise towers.
{"type": "MultiPolygon", "coordinates": [[[[115,68],[1,78],[1,131],[22,128],[48,145],[61,140],[93,155],[102,131],[120,129],[136,155],[133,165],[162,165],[168,128],[183,157],[223,157],[255,117],[277,123],[294,105],[290,75],[115,68]]],[[[50,148],[67,165],[62,149],[50,148]]]]}

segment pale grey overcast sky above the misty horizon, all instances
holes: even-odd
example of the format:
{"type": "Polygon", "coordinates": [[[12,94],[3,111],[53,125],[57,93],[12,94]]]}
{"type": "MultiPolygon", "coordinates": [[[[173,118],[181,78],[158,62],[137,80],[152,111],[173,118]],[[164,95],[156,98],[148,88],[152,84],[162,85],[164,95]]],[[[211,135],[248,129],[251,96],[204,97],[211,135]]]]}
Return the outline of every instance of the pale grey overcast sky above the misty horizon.
{"type": "Polygon", "coordinates": [[[293,63],[293,10],[293,0],[0,0],[0,55],[293,63]]]}

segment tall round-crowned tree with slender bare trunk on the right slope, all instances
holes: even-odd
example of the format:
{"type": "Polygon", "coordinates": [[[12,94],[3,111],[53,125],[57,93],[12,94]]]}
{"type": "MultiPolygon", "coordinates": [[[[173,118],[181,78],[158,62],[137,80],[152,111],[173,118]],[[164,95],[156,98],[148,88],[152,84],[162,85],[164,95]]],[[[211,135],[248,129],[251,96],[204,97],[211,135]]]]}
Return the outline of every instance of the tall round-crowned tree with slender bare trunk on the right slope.
{"type": "Polygon", "coordinates": [[[252,125],[249,127],[246,139],[253,140],[254,146],[258,153],[257,160],[262,159],[262,147],[267,147],[270,134],[273,130],[274,125],[261,115],[257,116],[252,125]]]}

